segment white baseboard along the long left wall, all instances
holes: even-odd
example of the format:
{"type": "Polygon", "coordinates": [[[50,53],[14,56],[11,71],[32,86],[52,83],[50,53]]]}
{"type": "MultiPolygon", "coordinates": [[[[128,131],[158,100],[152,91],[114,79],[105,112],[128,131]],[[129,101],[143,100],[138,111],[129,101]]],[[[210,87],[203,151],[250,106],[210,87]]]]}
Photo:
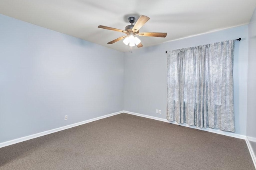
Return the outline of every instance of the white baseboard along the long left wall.
{"type": "Polygon", "coordinates": [[[9,140],[9,141],[6,141],[6,142],[2,142],[2,143],[0,143],[0,148],[5,147],[5,146],[9,146],[9,145],[12,145],[12,144],[16,144],[16,143],[19,143],[19,142],[23,142],[23,141],[26,141],[26,140],[30,140],[30,139],[33,139],[33,138],[38,138],[38,137],[44,136],[46,134],[51,134],[51,133],[54,133],[54,132],[58,132],[60,130],[65,130],[65,129],[68,129],[68,128],[72,128],[72,127],[76,127],[76,126],[83,125],[83,124],[86,124],[86,123],[90,123],[90,122],[93,122],[93,121],[97,121],[97,120],[100,120],[100,119],[104,119],[106,117],[118,115],[120,113],[123,113],[123,111],[116,112],[116,113],[111,113],[111,114],[104,115],[104,116],[101,116],[101,117],[96,117],[94,119],[89,119],[87,121],[74,123],[72,125],[67,125],[67,126],[64,126],[64,127],[59,127],[59,128],[55,128],[55,129],[52,129],[52,130],[47,130],[47,131],[44,131],[44,132],[31,134],[29,136],[24,136],[24,137],[21,137],[21,138],[17,138],[17,139],[9,140]]]}

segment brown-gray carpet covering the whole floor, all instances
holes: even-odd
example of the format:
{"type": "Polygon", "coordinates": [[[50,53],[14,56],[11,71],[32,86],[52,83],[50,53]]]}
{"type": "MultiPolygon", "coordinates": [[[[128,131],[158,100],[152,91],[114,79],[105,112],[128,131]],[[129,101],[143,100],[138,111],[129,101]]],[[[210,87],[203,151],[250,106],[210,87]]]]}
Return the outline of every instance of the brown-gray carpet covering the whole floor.
{"type": "Polygon", "coordinates": [[[245,140],[120,114],[0,148],[1,170],[254,170],[245,140]]]}

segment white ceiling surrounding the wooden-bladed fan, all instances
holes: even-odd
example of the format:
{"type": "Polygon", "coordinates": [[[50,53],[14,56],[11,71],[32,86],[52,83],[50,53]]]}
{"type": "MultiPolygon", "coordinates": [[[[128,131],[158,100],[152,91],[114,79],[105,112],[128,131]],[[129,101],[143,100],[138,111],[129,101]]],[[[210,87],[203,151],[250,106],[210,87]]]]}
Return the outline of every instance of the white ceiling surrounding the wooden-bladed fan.
{"type": "Polygon", "coordinates": [[[150,20],[140,32],[167,32],[167,36],[140,36],[147,47],[248,24],[255,6],[256,0],[0,0],[0,14],[129,51],[122,40],[107,44],[124,33],[97,28],[98,25],[124,30],[130,24],[129,16],[148,16],[150,20]]]}

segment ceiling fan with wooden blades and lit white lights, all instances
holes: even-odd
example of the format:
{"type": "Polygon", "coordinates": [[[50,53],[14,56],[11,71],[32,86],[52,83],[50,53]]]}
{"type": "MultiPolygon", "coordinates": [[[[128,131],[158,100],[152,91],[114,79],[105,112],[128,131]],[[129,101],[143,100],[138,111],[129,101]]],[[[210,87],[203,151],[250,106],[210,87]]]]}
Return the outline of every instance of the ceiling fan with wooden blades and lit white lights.
{"type": "Polygon", "coordinates": [[[130,51],[132,52],[132,47],[135,46],[135,44],[137,45],[137,47],[142,47],[142,43],[140,43],[140,39],[136,36],[147,36],[147,37],[166,37],[167,33],[163,33],[163,32],[139,32],[140,28],[142,28],[142,26],[144,26],[144,24],[149,20],[150,18],[144,15],[141,15],[140,18],[138,19],[138,21],[133,25],[134,21],[135,21],[135,17],[129,17],[128,20],[131,23],[131,25],[128,25],[124,28],[124,30],[119,30],[117,28],[111,28],[111,27],[107,27],[107,26],[98,26],[98,28],[103,28],[106,30],[113,30],[113,31],[118,31],[118,32],[123,32],[126,35],[119,37],[115,40],[112,40],[111,42],[108,42],[108,44],[112,44],[115,42],[118,42],[122,39],[124,39],[124,44],[130,46],[130,51]]]}

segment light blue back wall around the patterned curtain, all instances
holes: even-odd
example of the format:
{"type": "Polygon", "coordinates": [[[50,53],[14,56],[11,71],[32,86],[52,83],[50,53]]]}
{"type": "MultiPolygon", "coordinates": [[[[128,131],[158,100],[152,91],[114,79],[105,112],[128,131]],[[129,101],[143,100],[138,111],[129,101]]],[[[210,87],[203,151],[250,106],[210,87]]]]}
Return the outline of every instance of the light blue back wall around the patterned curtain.
{"type": "MultiPolygon", "coordinates": [[[[248,26],[230,28],[125,53],[124,110],[166,119],[165,51],[237,38],[242,40],[235,43],[234,49],[235,133],[246,135],[248,26]],[[162,114],[156,114],[156,109],[162,110],[162,114]]],[[[148,38],[149,41],[150,39],[152,38],[148,38]]]]}

